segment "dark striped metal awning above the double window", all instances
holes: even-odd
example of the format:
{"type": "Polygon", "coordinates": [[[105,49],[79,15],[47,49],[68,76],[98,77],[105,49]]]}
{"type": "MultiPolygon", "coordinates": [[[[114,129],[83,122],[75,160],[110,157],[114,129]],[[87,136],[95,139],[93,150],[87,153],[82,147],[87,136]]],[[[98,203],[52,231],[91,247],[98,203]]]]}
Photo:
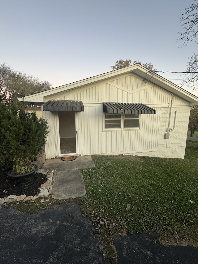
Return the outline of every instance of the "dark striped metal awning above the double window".
{"type": "Polygon", "coordinates": [[[156,114],[156,110],[139,103],[102,103],[103,113],[110,114],[156,114]]]}

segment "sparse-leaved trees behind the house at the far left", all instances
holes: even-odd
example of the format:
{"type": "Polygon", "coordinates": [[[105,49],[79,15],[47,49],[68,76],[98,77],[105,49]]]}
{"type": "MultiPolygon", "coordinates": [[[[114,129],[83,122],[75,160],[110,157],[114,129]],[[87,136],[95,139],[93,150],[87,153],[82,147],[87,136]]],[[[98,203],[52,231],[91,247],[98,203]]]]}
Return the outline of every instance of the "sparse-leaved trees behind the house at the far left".
{"type": "Polygon", "coordinates": [[[17,97],[51,88],[52,85],[48,81],[40,81],[38,78],[27,76],[23,72],[12,70],[5,63],[0,64],[0,102],[20,108],[21,102],[17,100],[17,97]]]}

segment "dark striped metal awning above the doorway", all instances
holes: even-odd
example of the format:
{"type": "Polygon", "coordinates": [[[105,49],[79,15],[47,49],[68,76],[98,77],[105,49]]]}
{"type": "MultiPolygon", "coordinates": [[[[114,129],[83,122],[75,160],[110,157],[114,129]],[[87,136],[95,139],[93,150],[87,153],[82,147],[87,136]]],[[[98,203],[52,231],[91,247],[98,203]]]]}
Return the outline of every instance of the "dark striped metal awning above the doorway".
{"type": "Polygon", "coordinates": [[[82,101],[49,100],[43,105],[44,111],[84,111],[82,101]]]}

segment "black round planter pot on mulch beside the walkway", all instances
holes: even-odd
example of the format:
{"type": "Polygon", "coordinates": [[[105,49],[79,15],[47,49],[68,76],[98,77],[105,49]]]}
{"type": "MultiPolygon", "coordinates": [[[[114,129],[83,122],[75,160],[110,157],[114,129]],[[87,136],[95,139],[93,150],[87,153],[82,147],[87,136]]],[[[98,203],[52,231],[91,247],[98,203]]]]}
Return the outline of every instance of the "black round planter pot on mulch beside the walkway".
{"type": "Polygon", "coordinates": [[[10,170],[7,175],[14,180],[14,183],[19,186],[29,185],[34,180],[34,174],[38,170],[38,166],[33,164],[35,169],[33,171],[29,171],[21,174],[11,174],[10,170]]]}

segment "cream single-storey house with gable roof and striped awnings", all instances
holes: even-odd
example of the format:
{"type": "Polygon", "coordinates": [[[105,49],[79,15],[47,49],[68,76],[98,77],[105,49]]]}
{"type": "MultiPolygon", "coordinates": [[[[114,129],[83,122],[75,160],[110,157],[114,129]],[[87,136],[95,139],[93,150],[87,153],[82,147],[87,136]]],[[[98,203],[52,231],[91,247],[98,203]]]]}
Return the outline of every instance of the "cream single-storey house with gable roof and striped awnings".
{"type": "Polygon", "coordinates": [[[138,63],[18,99],[42,107],[46,158],[184,158],[190,110],[198,105],[198,97],[138,63]]]}

